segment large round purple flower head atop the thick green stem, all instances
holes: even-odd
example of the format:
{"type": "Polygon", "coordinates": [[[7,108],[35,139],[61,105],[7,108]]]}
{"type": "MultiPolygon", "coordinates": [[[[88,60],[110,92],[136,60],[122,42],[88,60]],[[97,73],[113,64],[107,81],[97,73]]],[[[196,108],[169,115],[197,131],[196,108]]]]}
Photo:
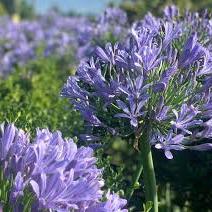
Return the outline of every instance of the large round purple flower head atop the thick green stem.
{"type": "Polygon", "coordinates": [[[151,144],[171,159],[171,150],[212,149],[202,143],[212,138],[212,51],[209,28],[194,27],[210,22],[208,16],[187,12],[181,20],[174,6],[164,14],[134,23],[124,43],[97,47],[61,94],[80,111],[92,136],[142,136],[148,124],[151,144]]]}

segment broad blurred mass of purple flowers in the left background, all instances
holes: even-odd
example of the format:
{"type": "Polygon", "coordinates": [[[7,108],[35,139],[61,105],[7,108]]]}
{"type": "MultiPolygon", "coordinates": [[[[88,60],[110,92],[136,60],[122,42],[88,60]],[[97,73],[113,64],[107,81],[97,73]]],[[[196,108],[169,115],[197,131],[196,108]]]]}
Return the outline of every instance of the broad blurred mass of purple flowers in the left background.
{"type": "MultiPolygon", "coordinates": [[[[9,18],[0,19],[0,63],[1,75],[5,75],[16,66],[22,66],[29,60],[41,55],[64,54],[73,46],[73,34],[76,20],[52,17],[52,23],[46,17],[34,21],[14,23],[9,18]],[[56,21],[57,20],[57,21],[56,21]],[[60,25],[60,23],[64,25],[60,25]],[[66,26],[66,27],[65,27],[66,26]],[[68,29],[68,30],[67,30],[68,29]]],[[[84,22],[79,19],[78,22],[84,22]]]]}

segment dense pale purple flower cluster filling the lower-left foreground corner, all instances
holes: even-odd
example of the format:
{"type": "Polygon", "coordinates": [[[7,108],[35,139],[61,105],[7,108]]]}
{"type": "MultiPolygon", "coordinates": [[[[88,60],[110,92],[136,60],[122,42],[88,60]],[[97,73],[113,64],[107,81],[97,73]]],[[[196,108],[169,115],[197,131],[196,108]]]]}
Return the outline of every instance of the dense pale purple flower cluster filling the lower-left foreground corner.
{"type": "Polygon", "coordinates": [[[29,135],[13,124],[1,125],[0,168],[7,179],[14,179],[11,205],[23,211],[21,200],[33,194],[33,211],[127,211],[126,200],[116,194],[103,197],[102,170],[89,147],[77,148],[72,139],[63,139],[59,131],[37,130],[29,135]]]}

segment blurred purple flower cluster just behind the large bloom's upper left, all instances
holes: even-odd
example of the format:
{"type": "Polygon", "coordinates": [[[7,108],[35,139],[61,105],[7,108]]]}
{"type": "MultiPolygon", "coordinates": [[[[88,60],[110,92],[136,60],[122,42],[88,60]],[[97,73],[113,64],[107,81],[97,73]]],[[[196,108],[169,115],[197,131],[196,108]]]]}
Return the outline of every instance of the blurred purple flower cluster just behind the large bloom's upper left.
{"type": "Polygon", "coordinates": [[[127,36],[126,13],[118,8],[107,8],[92,26],[79,26],[79,31],[84,32],[84,45],[78,47],[77,59],[86,61],[94,54],[96,46],[103,47],[107,42],[122,41],[127,36]]]}

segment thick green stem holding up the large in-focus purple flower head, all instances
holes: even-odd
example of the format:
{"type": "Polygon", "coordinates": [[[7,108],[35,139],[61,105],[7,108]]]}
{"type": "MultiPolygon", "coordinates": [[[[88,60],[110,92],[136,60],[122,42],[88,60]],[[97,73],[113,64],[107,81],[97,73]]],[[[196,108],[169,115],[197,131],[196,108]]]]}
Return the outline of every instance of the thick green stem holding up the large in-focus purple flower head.
{"type": "Polygon", "coordinates": [[[151,201],[151,212],[158,212],[158,197],[155,180],[155,171],[152,160],[151,146],[149,143],[150,128],[146,127],[140,140],[140,155],[143,164],[144,192],[146,201],[151,201]]]}

